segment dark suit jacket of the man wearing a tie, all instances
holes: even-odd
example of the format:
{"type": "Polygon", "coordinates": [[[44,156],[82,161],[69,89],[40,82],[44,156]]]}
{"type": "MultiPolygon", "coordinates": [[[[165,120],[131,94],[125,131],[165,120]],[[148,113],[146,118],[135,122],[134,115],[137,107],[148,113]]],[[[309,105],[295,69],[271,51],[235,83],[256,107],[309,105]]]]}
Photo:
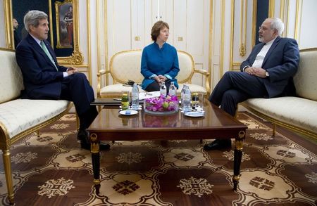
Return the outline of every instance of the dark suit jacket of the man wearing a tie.
{"type": "Polygon", "coordinates": [[[15,58],[21,68],[25,86],[21,98],[58,99],[61,95],[63,72],[66,72],[67,67],[58,65],[51,45],[46,40],[44,43],[54,58],[58,71],[30,34],[20,41],[15,50],[15,58]]]}

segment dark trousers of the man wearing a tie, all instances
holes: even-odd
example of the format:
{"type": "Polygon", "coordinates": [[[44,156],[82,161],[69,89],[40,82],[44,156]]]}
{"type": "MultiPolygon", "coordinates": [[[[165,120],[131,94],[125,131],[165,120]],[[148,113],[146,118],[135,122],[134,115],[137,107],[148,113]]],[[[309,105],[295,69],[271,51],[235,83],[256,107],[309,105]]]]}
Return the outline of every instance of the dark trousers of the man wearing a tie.
{"type": "Polygon", "coordinates": [[[60,98],[73,101],[80,119],[80,129],[87,129],[98,115],[96,106],[90,105],[94,101],[94,90],[82,73],[63,79],[60,98]]]}

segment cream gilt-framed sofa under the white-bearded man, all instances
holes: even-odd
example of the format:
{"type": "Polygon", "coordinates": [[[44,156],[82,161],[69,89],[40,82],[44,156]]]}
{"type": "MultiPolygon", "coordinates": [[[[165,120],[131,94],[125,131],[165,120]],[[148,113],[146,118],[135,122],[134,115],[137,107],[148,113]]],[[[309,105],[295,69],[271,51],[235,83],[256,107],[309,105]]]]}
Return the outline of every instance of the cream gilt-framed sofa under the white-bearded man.
{"type": "Polygon", "coordinates": [[[242,105],[273,124],[317,139],[316,79],[317,49],[303,49],[300,51],[299,68],[294,76],[296,97],[251,98],[242,105]]]}

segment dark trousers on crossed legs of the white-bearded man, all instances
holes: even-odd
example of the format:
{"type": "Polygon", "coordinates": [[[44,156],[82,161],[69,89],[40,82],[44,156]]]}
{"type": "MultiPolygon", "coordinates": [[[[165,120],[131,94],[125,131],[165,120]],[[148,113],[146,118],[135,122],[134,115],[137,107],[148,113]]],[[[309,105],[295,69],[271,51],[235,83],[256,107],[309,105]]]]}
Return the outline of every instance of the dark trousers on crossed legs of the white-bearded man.
{"type": "Polygon", "coordinates": [[[248,98],[266,97],[268,93],[263,79],[247,72],[225,72],[215,89],[209,96],[209,101],[222,110],[235,116],[237,104],[248,98]]]}

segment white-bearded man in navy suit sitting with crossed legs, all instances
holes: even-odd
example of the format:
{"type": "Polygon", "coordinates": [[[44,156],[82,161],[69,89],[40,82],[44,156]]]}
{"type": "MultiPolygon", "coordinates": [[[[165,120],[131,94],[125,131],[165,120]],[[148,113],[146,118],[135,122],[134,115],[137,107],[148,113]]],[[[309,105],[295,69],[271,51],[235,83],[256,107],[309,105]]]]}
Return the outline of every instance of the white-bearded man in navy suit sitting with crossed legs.
{"type": "MultiPolygon", "coordinates": [[[[267,18],[259,28],[259,41],[241,66],[241,72],[225,72],[209,101],[235,116],[237,104],[248,98],[294,96],[293,76],[299,64],[297,41],[282,38],[284,24],[279,18],[267,18]]],[[[228,148],[230,139],[206,144],[205,150],[228,148]]]]}

